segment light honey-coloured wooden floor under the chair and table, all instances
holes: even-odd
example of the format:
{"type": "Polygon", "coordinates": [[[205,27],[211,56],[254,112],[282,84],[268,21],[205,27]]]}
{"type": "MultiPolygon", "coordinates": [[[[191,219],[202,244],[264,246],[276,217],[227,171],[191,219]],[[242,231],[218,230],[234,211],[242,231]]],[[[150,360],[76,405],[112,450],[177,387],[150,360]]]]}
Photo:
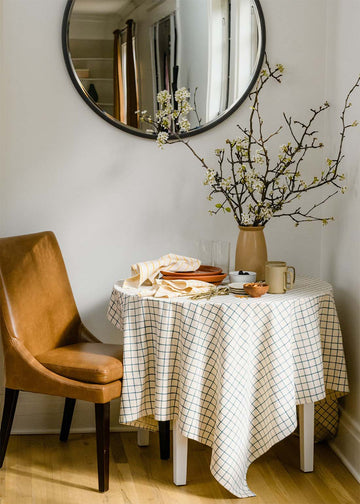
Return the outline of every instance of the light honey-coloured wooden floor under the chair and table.
{"type": "Polygon", "coordinates": [[[97,492],[95,436],[11,436],[0,470],[1,504],[359,504],[360,485],[327,445],[315,448],[314,473],[298,469],[298,440],[287,438],[250,466],[256,497],[238,499],[212,477],[210,450],[189,442],[188,484],[172,483],[172,461],[157,435],[139,448],[133,432],[111,435],[110,490],[97,492]]]}

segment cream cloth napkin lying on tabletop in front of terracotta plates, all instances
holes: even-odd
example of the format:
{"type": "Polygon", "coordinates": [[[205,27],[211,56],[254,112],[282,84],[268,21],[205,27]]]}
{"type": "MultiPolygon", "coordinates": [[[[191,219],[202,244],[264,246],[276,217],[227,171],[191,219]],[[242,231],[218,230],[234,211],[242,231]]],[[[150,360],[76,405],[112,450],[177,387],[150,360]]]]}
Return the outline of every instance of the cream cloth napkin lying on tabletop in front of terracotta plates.
{"type": "MultiPolygon", "coordinates": [[[[124,287],[124,285],[123,285],[124,287]]],[[[139,296],[179,297],[208,292],[212,284],[202,280],[155,280],[154,285],[138,287],[139,296]]]]}

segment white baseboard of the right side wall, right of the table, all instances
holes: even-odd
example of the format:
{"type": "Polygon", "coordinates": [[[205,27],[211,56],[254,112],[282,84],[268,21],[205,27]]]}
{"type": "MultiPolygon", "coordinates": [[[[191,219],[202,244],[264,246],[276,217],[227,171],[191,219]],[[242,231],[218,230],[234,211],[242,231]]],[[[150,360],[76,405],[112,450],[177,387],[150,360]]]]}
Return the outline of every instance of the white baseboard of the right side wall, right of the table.
{"type": "Polygon", "coordinates": [[[329,445],[360,483],[360,425],[342,408],[338,434],[329,445]]]}

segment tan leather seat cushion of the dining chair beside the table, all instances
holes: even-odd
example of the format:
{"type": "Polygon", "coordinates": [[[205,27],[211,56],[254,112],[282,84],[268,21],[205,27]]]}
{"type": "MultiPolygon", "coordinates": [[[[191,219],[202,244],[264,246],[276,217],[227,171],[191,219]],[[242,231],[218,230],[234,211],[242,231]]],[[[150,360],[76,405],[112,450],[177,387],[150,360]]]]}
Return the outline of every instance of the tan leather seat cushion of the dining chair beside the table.
{"type": "Polygon", "coordinates": [[[55,348],[36,359],[47,369],[66,378],[106,384],[123,375],[123,348],[107,343],[76,343],[55,348]]]}

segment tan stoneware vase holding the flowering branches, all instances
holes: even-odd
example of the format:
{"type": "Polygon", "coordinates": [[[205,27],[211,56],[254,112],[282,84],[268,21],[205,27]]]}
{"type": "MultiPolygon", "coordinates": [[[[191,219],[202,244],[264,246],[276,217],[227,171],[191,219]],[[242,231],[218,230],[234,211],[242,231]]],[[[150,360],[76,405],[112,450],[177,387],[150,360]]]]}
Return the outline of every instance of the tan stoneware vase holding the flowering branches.
{"type": "Polygon", "coordinates": [[[239,226],[239,229],[235,269],[237,271],[256,271],[256,280],[264,280],[267,261],[264,226],[239,226]]]}

